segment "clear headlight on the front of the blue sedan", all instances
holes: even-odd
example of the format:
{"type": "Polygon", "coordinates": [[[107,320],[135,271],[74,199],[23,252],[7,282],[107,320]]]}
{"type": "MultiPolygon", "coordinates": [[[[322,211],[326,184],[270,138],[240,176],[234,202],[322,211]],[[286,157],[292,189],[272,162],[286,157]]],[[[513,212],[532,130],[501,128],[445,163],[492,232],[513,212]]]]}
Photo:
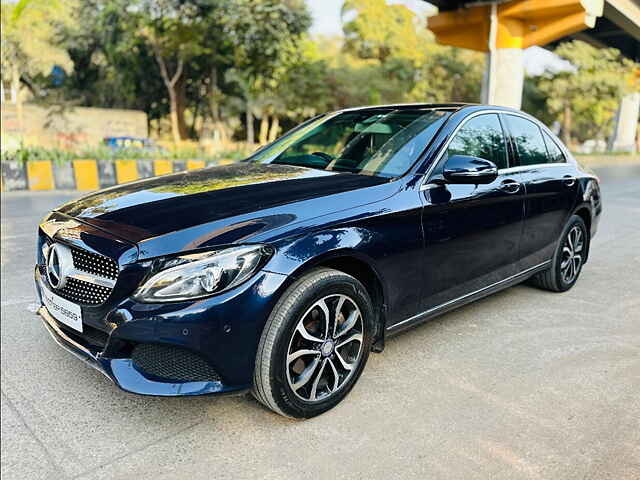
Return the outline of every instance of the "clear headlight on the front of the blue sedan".
{"type": "Polygon", "coordinates": [[[264,245],[247,245],[163,260],[161,271],[144,282],[133,297],[142,302],[208,297],[247,280],[271,253],[264,245]]]}

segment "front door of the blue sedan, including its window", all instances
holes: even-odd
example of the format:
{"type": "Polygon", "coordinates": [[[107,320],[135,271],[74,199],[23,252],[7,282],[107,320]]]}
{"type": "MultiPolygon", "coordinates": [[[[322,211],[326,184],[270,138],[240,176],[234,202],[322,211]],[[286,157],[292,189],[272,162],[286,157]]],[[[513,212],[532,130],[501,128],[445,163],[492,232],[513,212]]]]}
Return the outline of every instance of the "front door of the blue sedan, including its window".
{"type": "Polygon", "coordinates": [[[467,120],[431,174],[451,155],[494,162],[498,178],[487,185],[427,184],[425,207],[425,310],[481,290],[516,273],[524,189],[509,169],[507,142],[495,113],[467,120]]]}

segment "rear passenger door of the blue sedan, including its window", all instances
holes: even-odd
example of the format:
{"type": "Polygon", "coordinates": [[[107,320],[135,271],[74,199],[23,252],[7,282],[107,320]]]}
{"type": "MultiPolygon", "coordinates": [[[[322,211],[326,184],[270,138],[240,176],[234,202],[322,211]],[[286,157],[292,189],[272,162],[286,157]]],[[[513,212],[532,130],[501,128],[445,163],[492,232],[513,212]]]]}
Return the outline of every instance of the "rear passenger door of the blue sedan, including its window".
{"type": "Polygon", "coordinates": [[[525,218],[519,269],[551,259],[577,196],[576,169],[551,136],[519,115],[502,118],[513,142],[524,184],[525,218]]]}

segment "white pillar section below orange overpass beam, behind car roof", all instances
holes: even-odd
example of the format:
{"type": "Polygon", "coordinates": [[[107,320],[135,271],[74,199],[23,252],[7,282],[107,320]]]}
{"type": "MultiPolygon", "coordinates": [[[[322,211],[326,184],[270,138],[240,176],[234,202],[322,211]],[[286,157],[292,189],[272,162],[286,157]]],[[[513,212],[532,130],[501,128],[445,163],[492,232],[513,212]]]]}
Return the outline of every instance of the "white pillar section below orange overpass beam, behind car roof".
{"type": "Polygon", "coordinates": [[[496,48],[487,53],[482,103],[520,108],[523,86],[524,52],[521,48],[496,48]]]}

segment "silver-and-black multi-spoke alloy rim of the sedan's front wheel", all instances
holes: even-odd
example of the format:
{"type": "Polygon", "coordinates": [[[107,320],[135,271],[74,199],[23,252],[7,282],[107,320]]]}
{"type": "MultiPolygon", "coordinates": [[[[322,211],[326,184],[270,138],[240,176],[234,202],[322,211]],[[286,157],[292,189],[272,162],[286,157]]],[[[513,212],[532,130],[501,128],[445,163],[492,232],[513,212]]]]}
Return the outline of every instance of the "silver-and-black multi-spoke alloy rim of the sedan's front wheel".
{"type": "Polygon", "coordinates": [[[362,313],[353,299],[327,295],[302,315],[289,341],[289,387],[306,402],[326,400],[357,370],[362,358],[362,313]]]}

